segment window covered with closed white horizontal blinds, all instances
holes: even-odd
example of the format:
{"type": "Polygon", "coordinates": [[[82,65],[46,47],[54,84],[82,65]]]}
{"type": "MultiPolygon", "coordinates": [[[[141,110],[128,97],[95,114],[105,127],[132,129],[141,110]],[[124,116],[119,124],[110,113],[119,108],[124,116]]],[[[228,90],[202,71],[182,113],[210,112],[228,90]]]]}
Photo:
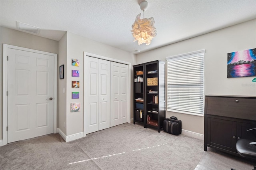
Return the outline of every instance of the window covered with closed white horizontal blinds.
{"type": "Polygon", "coordinates": [[[204,51],[167,57],[167,111],[204,114],[204,51]]]}

